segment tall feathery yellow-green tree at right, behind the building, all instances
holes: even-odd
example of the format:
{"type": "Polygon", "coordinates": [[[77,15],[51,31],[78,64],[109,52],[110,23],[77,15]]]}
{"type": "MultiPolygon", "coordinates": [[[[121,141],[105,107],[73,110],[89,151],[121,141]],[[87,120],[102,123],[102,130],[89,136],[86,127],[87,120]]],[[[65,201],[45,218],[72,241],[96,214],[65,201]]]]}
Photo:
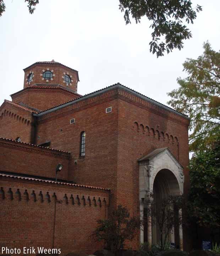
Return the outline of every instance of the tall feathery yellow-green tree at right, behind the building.
{"type": "Polygon", "coordinates": [[[178,78],[180,87],[168,93],[172,97],[168,104],[191,118],[191,151],[210,147],[220,133],[220,52],[209,42],[203,48],[201,56],[183,63],[189,76],[178,78]]]}

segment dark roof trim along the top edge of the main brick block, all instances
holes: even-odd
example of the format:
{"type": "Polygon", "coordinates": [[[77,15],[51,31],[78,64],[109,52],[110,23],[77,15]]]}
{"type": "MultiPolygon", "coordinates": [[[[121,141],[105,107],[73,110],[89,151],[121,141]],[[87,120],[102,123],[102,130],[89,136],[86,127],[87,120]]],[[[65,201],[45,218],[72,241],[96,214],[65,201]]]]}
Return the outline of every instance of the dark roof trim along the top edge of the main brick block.
{"type": "Polygon", "coordinates": [[[177,115],[180,115],[180,116],[182,116],[182,117],[184,117],[184,118],[190,120],[190,118],[189,118],[187,115],[182,114],[182,113],[180,113],[180,112],[178,112],[178,111],[176,111],[176,110],[174,110],[174,109],[172,109],[172,108],[170,108],[170,107],[168,107],[168,106],[166,106],[166,105],[164,105],[164,104],[161,104],[161,103],[159,103],[158,101],[155,101],[155,100],[153,100],[153,99],[150,99],[150,98],[148,98],[147,96],[145,96],[145,95],[143,95],[143,94],[141,94],[141,93],[138,93],[138,92],[136,92],[136,91],[134,91],[134,90],[132,90],[132,89],[130,89],[130,88],[128,88],[128,87],[125,87],[124,85],[122,85],[122,84],[120,84],[120,83],[113,84],[113,85],[111,85],[111,86],[109,86],[109,87],[106,87],[106,88],[104,88],[104,89],[101,89],[101,90],[98,90],[98,91],[96,91],[96,92],[93,92],[93,93],[84,95],[84,96],[82,96],[82,97],[80,97],[80,98],[77,98],[77,99],[68,101],[67,103],[61,104],[61,105],[59,105],[59,106],[55,106],[54,108],[51,108],[51,109],[42,111],[42,112],[39,113],[39,114],[33,114],[33,115],[35,115],[35,116],[46,115],[46,114],[51,113],[51,112],[53,112],[53,111],[56,111],[56,110],[65,108],[66,106],[72,105],[72,104],[74,104],[74,103],[76,103],[76,102],[78,102],[78,101],[81,101],[81,100],[84,100],[84,99],[88,99],[88,98],[90,98],[90,97],[97,96],[97,95],[99,95],[99,94],[108,92],[109,90],[113,90],[113,89],[116,89],[116,88],[122,89],[122,90],[124,90],[124,91],[126,91],[126,92],[128,92],[128,93],[131,93],[131,94],[133,94],[133,95],[135,95],[135,96],[137,96],[137,97],[139,97],[139,98],[141,98],[141,99],[143,99],[143,100],[146,100],[146,101],[148,101],[148,102],[150,102],[150,103],[152,103],[152,104],[155,104],[155,105],[159,106],[160,108],[163,108],[163,109],[165,109],[165,110],[167,110],[167,111],[173,112],[173,113],[175,113],[175,114],[177,114],[177,115]]]}

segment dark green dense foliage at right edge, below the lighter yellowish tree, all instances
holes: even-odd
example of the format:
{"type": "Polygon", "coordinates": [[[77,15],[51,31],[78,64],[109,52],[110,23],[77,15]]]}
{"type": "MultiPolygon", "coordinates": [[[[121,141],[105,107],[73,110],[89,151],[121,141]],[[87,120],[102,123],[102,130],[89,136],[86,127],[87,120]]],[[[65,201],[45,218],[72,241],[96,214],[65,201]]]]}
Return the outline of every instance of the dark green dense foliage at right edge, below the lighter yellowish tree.
{"type": "Polygon", "coordinates": [[[189,164],[188,213],[202,226],[220,226],[220,135],[213,148],[194,153],[189,164]]]}

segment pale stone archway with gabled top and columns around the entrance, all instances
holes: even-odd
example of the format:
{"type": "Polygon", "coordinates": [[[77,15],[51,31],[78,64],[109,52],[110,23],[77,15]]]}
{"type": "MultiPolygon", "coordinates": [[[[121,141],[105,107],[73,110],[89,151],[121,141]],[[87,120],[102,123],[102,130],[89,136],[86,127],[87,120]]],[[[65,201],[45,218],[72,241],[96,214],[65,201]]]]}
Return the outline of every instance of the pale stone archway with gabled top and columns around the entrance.
{"type": "MultiPolygon", "coordinates": [[[[169,148],[158,148],[138,160],[139,162],[139,202],[141,219],[144,212],[151,208],[153,200],[168,195],[183,194],[183,167],[170,152],[169,148]]],[[[146,230],[140,232],[140,242],[144,242],[144,234],[147,236],[149,246],[158,239],[156,228],[153,227],[148,216],[146,230]]],[[[180,249],[182,246],[182,227],[179,227],[180,249]]],[[[174,242],[171,235],[171,241],[174,242]]]]}

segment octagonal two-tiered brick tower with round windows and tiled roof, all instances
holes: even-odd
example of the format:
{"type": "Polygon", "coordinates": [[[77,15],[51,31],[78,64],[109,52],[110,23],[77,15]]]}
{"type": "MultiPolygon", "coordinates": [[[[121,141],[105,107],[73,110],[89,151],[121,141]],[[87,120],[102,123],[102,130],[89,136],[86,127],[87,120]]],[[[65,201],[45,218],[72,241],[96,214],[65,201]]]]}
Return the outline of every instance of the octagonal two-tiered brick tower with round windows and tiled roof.
{"type": "Polygon", "coordinates": [[[75,69],[52,60],[35,62],[23,70],[23,90],[11,95],[14,103],[42,111],[80,96],[75,69]]]}

